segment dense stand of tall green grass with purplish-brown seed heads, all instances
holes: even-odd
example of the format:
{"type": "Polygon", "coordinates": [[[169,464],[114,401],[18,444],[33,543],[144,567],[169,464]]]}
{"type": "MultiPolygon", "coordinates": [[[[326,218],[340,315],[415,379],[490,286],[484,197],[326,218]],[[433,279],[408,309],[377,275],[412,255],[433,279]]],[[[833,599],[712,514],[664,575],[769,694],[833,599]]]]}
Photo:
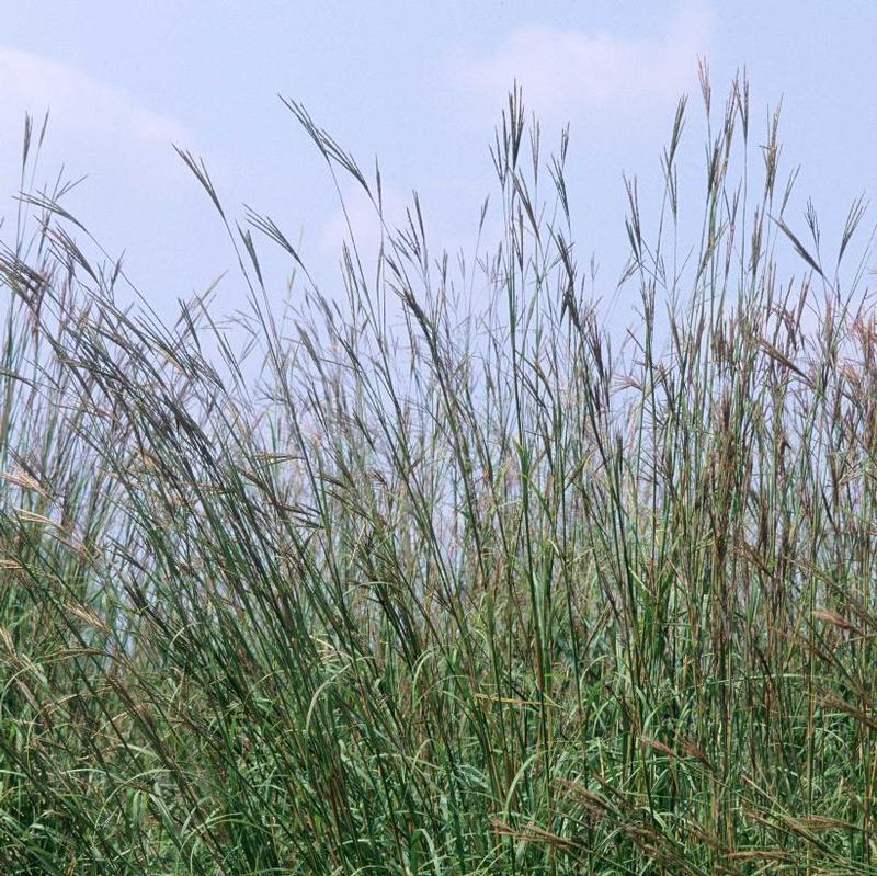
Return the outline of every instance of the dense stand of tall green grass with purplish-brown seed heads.
{"type": "MultiPolygon", "coordinates": [[[[23,197],[2,873],[877,873],[863,206],[836,253],[812,211],[794,231],[776,120],[753,139],[747,83],[702,88],[699,240],[683,101],[652,235],[628,185],[624,338],[577,263],[567,138],[545,160],[516,90],[499,246],[454,271],[412,205],[340,295],[183,153],[249,287],[231,328],[122,307],[64,192],[23,197]]],[[[383,221],[379,178],[287,106],[383,221]]]]}

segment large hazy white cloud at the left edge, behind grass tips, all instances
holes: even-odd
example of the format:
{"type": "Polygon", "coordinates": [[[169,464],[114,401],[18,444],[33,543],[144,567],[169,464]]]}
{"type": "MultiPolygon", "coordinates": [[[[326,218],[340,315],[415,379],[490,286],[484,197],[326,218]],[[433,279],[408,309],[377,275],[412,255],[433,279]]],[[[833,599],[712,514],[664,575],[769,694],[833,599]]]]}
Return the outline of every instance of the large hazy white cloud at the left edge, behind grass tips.
{"type": "Polygon", "coordinates": [[[198,153],[192,133],[124,88],[8,46],[0,46],[0,238],[14,232],[25,113],[35,138],[46,111],[35,187],[50,190],[61,167],[65,182],[87,177],[65,205],[114,258],[127,252],[127,270],[157,291],[153,300],[203,288],[219,270],[206,271],[195,254],[207,246],[195,230],[209,215],[206,196],[172,147],[198,153]]]}

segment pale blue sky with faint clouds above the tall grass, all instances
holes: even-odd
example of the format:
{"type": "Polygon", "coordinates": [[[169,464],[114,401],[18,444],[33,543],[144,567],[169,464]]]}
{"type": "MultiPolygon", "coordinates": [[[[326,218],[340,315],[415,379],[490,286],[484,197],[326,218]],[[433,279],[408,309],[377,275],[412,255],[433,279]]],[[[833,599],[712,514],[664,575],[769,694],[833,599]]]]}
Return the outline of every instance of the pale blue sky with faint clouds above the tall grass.
{"type": "MultiPolygon", "coordinates": [[[[699,107],[698,55],[717,95],[748,69],[758,136],[783,98],[786,168],[802,164],[797,191],[836,236],[850,202],[877,192],[876,45],[877,4],[852,0],[9,3],[0,213],[13,209],[24,112],[50,109],[42,177],[61,162],[69,177],[88,174],[69,204],[111,253],[127,251],[160,310],[234,266],[172,143],[204,157],[229,206],[250,204],[300,235],[328,277],[338,202],[280,93],[365,167],[379,158],[391,208],[415,189],[436,241],[470,246],[496,191],[488,147],[516,76],[546,146],[571,123],[576,242],[611,286],[626,254],[622,174],[659,189],[679,95],[699,107]]],[[[690,160],[703,163],[692,132],[690,160]]],[[[240,284],[220,288],[220,307],[234,307],[240,284]]]]}

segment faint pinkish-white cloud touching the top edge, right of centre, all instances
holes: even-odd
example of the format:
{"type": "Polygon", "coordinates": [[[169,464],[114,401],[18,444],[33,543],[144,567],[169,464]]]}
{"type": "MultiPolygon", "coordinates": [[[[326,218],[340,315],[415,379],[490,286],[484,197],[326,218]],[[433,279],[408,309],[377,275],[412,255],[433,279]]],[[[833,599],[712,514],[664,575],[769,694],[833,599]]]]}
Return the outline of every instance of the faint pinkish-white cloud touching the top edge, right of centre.
{"type": "Polygon", "coordinates": [[[681,7],[654,37],[529,25],[513,30],[493,52],[457,60],[452,78],[491,110],[516,79],[526,105],[551,123],[582,112],[592,122],[650,110],[663,117],[668,104],[696,81],[696,57],[707,54],[709,36],[703,0],[681,7]]]}

